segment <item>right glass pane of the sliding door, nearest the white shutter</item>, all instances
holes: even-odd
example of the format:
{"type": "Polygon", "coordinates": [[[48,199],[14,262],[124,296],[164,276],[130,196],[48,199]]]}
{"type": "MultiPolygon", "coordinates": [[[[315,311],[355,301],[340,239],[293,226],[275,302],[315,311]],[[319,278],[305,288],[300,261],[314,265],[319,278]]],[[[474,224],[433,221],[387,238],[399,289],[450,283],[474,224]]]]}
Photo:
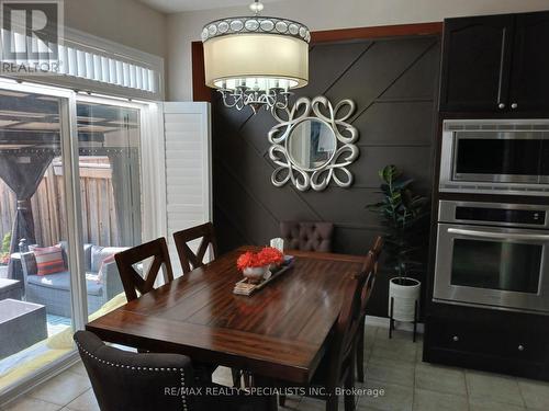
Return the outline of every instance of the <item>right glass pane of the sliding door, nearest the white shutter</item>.
{"type": "MultiPolygon", "coordinates": [[[[78,148],[88,313],[123,293],[114,254],[142,242],[141,112],[78,99],[78,148]]],[[[122,297],[119,297],[119,299],[122,297]]]]}

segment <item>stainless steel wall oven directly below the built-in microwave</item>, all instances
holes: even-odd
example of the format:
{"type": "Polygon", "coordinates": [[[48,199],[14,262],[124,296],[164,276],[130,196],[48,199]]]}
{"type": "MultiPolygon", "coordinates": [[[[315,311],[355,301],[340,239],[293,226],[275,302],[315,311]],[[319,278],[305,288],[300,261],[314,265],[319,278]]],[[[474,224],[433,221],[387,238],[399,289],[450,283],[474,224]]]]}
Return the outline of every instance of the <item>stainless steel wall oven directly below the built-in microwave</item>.
{"type": "Polygon", "coordinates": [[[434,300],[549,313],[549,206],[441,201],[434,300]]]}

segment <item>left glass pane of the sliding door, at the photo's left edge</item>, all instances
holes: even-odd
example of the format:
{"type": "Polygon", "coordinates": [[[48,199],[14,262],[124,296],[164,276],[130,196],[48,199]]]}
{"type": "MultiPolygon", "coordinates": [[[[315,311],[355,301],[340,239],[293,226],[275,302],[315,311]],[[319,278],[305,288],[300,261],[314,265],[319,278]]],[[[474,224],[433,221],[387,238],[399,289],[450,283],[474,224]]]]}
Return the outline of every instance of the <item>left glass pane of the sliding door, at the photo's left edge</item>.
{"type": "Polygon", "coordinates": [[[69,95],[0,84],[0,391],[72,350],[69,95]]]}

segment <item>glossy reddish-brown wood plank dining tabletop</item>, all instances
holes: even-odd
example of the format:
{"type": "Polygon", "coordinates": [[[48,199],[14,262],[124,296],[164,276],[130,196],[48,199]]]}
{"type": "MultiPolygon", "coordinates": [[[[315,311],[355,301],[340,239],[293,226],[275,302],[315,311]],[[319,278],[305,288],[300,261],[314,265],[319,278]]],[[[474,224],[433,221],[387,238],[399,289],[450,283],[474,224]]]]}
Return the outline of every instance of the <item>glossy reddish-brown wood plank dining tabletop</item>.
{"type": "Polygon", "coordinates": [[[88,323],[104,341],[306,384],[324,355],[345,283],[362,256],[288,252],[294,266],[264,289],[233,294],[245,247],[88,323]]]}

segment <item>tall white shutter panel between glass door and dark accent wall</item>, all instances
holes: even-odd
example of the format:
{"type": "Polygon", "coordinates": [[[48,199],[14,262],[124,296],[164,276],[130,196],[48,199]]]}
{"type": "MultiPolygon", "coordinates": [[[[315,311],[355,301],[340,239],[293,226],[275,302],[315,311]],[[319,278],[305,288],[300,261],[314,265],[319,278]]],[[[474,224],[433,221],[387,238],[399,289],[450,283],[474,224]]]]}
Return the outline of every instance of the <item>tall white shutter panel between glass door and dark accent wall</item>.
{"type": "Polygon", "coordinates": [[[164,103],[164,129],[166,231],[178,275],[181,265],[173,232],[212,220],[210,104],[164,103]]]}

